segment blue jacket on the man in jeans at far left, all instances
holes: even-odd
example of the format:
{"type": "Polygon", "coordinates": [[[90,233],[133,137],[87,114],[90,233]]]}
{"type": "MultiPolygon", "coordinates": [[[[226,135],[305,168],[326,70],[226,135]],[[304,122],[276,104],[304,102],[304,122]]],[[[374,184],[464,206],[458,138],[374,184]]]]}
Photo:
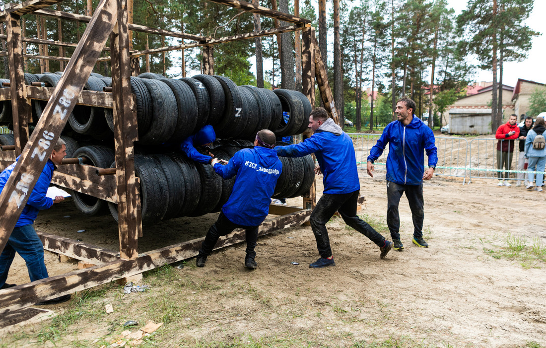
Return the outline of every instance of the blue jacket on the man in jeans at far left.
{"type": "MultiPolygon", "coordinates": [[[[17,160],[19,160],[19,157],[17,157],[17,160]]],[[[11,163],[10,166],[5,168],[0,174],[0,192],[4,189],[5,183],[8,182],[9,176],[11,175],[11,172],[13,172],[16,163],[17,162],[11,163]]],[[[31,225],[38,216],[39,210],[48,209],[53,205],[53,199],[45,197],[45,194],[48,192],[54,170],[55,164],[53,164],[51,160],[48,160],[48,162],[45,163],[44,169],[41,171],[36,185],[34,185],[30,197],[28,197],[27,204],[25,205],[25,208],[23,208],[15,227],[31,225]]]]}

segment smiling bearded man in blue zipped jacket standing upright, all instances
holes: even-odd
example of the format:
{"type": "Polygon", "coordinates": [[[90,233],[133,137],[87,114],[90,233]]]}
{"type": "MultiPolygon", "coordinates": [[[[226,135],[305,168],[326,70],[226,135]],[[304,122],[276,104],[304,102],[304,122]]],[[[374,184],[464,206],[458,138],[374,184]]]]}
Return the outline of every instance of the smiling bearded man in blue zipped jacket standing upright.
{"type": "Polygon", "coordinates": [[[413,220],[413,243],[420,247],[429,247],[423,239],[423,180],[429,180],[434,174],[438,157],[434,133],[416,115],[416,104],[410,98],[402,98],[396,103],[396,119],[390,122],[377,143],[370,150],[367,158],[367,172],[373,177],[373,161],[383,153],[389,143],[387,156],[387,225],[393,238],[394,250],[402,251],[400,241],[400,197],[406,192],[410,203],[413,220]],[[429,157],[429,168],[424,170],[424,155],[429,157]],[[424,172],[424,173],[423,173],[424,172]]]}

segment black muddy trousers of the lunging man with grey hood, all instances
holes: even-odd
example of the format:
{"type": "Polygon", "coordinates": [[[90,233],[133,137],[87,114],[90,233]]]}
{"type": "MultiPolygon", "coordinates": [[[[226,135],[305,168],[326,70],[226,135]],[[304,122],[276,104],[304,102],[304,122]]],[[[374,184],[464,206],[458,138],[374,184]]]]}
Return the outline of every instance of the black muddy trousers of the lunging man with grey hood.
{"type": "Polygon", "coordinates": [[[358,194],[359,190],[342,194],[324,193],[321,199],[318,200],[309,222],[311,223],[314,238],[317,240],[317,249],[321,257],[332,256],[326,223],[334,216],[336,211],[340,213],[347,225],[364,234],[377,246],[382,247],[385,245],[385,238],[357,216],[358,194]]]}

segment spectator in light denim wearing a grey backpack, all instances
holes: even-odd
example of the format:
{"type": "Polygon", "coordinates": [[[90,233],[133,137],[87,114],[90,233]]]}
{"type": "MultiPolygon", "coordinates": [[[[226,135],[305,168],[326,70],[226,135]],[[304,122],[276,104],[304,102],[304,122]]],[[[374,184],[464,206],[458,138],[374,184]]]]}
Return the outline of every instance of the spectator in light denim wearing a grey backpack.
{"type": "MultiPolygon", "coordinates": [[[[544,172],[544,166],[546,165],[546,140],[544,139],[544,131],[546,126],[544,124],[544,119],[538,117],[535,121],[535,126],[527,133],[527,138],[525,139],[525,157],[529,158],[529,165],[527,170],[529,172],[544,172]]],[[[531,190],[534,187],[533,180],[535,179],[535,174],[529,173],[527,180],[529,180],[529,185],[525,188],[531,190]]],[[[537,182],[535,190],[542,192],[544,174],[537,174],[537,182]]]]}

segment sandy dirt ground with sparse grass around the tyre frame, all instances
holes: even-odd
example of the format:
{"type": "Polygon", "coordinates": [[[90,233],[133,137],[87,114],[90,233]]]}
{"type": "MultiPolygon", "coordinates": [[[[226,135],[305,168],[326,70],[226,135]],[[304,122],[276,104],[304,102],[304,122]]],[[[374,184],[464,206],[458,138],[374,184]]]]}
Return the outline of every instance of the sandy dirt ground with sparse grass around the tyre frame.
{"type": "MultiPolygon", "coordinates": [[[[366,205],[359,214],[387,236],[384,173],[373,179],[360,174],[366,205]]],[[[167,280],[157,272],[147,276],[144,284],[152,288],[146,293],[121,298],[120,288],[107,286],[102,301],[114,301],[115,316],[82,317],[53,344],[84,340],[100,346],[112,333],[104,331],[106,323],[119,326],[132,316],[165,322],[150,346],[546,347],[545,193],[496,183],[462,185],[462,179],[441,177],[425,182],[428,249],[411,243],[411,213],[403,197],[402,252],[379,259],[375,245],[335,217],[328,229],[336,267],[310,269],[308,263],[318,258],[311,228],[290,228],[258,240],[259,267],[253,272],[244,268],[240,244],[213,253],[205,268],[191,260],[172,268],[167,280]],[[167,306],[169,299],[174,303],[167,306]]],[[[215,217],[145,227],[139,251],[204,235],[215,217]]],[[[41,212],[36,229],[117,250],[114,220],[85,218],[71,202],[41,212]],[[76,232],[81,229],[86,231],[76,232]]],[[[49,252],[46,262],[50,275],[76,268],[49,252]]],[[[25,281],[19,258],[8,282],[25,281]]],[[[50,307],[67,312],[74,306],[75,300],[50,307]]],[[[52,346],[36,339],[48,325],[25,327],[25,335],[8,335],[4,344],[52,346]]]]}

